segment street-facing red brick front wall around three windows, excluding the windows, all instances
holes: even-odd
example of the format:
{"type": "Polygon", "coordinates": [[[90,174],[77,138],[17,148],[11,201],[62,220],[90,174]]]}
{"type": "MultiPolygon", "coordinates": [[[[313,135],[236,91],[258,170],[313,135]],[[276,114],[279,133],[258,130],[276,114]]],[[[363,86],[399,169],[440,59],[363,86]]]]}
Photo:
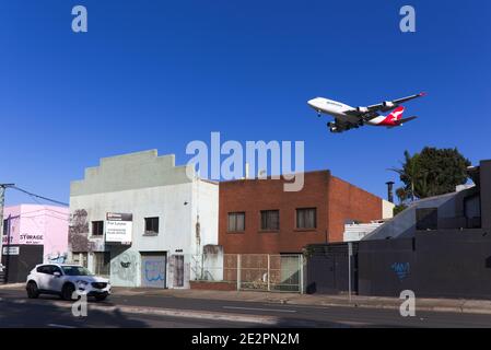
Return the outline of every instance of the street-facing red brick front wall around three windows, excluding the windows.
{"type": "Polygon", "coordinates": [[[305,174],[297,192],[283,191],[283,179],[220,184],[219,244],[226,254],[301,253],[305,242],[323,243],[327,230],[328,171],[305,174]],[[296,208],[317,208],[317,230],[295,230],[296,208]],[[279,232],[260,231],[260,211],[280,210],[279,232]],[[245,232],[227,233],[227,213],[245,212],[245,232]]]}

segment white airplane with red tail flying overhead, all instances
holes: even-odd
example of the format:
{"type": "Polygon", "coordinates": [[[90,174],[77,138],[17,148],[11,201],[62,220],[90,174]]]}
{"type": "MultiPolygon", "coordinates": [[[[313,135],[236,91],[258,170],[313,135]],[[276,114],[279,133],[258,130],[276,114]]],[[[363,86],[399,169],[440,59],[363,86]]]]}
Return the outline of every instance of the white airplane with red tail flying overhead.
{"type": "Polygon", "coordinates": [[[327,124],[330,132],[343,132],[353,128],[359,128],[364,125],[387,127],[389,129],[401,127],[405,122],[411,121],[418,117],[412,116],[402,119],[405,107],[400,104],[425,96],[426,93],[422,92],[408,97],[402,97],[394,101],[385,101],[383,103],[367,106],[367,107],[351,107],[343,103],[316,97],[307,102],[307,104],[320,114],[327,114],[335,118],[335,121],[327,124]],[[389,112],[387,116],[381,115],[381,113],[389,112]]]}

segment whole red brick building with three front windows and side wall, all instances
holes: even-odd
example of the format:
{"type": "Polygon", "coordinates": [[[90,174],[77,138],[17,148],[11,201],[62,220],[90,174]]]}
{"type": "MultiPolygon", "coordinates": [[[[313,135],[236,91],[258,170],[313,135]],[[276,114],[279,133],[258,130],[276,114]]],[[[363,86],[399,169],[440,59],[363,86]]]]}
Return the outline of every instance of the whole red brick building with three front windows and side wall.
{"type": "Polygon", "coordinates": [[[342,242],[347,220],[383,217],[383,199],[329,171],[305,173],[301,191],[284,179],[220,183],[219,244],[225,254],[301,253],[312,243],[342,242]]]}

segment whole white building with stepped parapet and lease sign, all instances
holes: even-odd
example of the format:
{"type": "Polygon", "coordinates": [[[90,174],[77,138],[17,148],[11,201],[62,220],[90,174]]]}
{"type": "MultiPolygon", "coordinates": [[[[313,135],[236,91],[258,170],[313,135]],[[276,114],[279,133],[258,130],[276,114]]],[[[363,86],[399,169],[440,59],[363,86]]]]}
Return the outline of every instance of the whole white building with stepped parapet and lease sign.
{"type": "Polygon", "coordinates": [[[189,288],[192,256],[218,244],[219,186],[156,150],[112,156],[71,183],[71,259],[113,285],[189,288]]]}

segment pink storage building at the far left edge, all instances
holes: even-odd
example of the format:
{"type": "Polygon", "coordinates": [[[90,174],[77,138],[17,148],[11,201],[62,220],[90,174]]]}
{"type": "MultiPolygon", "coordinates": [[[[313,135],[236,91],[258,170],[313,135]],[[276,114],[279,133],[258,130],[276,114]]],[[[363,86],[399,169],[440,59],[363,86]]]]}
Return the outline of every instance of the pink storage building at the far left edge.
{"type": "Polygon", "coordinates": [[[23,282],[37,264],[63,262],[68,252],[69,210],[20,205],[3,210],[2,264],[8,282],[23,282]]]}

